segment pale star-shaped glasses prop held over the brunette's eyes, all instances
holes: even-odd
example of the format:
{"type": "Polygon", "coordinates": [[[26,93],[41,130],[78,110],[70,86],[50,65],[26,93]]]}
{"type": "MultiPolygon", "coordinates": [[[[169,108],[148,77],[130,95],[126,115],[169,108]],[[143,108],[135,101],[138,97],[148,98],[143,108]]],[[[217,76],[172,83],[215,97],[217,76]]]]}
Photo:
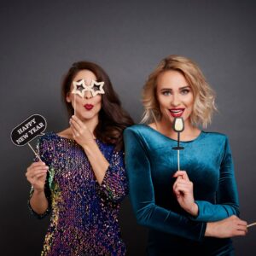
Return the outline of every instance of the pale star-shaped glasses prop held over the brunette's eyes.
{"type": "Polygon", "coordinates": [[[84,98],[85,91],[90,91],[91,96],[96,96],[98,94],[104,94],[103,90],[104,82],[96,82],[95,80],[91,80],[90,85],[85,84],[84,79],[81,79],[78,82],[73,81],[73,94],[78,94],[82,98],[84,98]]]}

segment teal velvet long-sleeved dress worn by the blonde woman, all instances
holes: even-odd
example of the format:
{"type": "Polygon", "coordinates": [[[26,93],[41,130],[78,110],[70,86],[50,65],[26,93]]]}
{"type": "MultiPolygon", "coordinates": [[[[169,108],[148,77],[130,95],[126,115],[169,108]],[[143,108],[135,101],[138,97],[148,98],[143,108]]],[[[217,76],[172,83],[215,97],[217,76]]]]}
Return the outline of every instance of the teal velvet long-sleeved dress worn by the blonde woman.
{"type": "Polygon", "coordinates": [[[234,255],[231,240],[205,237],[207,222],[239,215],[228,138],[201,131],[181,142],[180,168],[194,183],[199,214],[185,212],[173,194],[177,141],[148,125],[125,130],[125,166],[137,223],[147,226],[148,255],[234,255]]]}

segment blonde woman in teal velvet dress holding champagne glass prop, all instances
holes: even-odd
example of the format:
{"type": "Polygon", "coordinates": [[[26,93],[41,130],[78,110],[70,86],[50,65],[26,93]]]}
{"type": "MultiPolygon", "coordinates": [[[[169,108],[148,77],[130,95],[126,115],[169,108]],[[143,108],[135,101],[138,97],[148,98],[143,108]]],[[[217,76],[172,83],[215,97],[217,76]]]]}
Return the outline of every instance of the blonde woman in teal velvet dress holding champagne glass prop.
{"type": "Polygon", "coordinates": [[[214,94],[195,62],[171,55],[143,88],[142,125],[125,130],[125,165],[137,223],[149,228],[148,255],[233,255],[245,236],[228,138],[202,131],[214,94]],[[177,171],[175,118],[183,117],[177,171]],[[221,239],[220,239],[221,238],[221,239]]]}

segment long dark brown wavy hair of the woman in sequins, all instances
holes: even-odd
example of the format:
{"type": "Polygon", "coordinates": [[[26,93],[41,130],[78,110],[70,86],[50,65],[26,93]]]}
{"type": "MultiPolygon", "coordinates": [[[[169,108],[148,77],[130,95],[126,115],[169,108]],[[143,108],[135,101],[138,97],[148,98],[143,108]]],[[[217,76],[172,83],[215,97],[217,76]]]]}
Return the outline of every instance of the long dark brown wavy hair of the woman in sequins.
{"type": "Polygon", "coordinates": [[[79,61],[73,63],[62,82],[62,100],[67,107],[69,118],[73,115],[72,104],[67,102],[66,97],[70,92],[73,78],[81,70],[90,70],[96,75],[97,81],[104,82],[105,94],[102,94],[102,108],[99,113],[99,122],[96,125],[95,136],[103,143],[115,145],[115,150],[123,149],[123,131],[126,127],[133,125],[131,116],[121,107],[119,96],[113,90],[113,85],[108,74],[96,63],[90,61],[79,61]]]}

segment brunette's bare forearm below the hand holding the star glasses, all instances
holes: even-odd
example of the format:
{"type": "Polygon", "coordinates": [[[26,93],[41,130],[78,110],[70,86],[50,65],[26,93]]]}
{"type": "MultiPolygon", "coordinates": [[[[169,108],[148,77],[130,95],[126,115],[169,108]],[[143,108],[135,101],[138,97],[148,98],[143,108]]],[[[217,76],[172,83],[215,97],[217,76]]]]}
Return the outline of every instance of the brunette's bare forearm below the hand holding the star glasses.
{"type": "Polygon", "coordinates": [[[84,145],[83,148],[90,161],[90,166],[92,167],[96,180],[101,185],[106,171],[108,170],[108,160],[106,160],[95,141],[84,145]]]}

